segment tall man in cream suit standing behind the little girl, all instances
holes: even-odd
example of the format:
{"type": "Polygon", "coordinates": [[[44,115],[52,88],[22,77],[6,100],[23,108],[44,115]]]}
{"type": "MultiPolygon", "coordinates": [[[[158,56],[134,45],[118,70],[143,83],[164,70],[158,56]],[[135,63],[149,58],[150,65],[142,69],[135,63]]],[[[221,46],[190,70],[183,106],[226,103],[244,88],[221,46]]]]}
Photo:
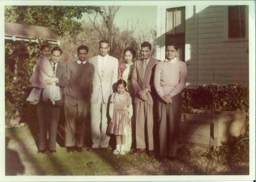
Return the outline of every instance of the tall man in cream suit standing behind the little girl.
{"type": "Polygon", "coordinates": [[[93,94],[91,95],[91,151],[106,150],[110,136],[107,136],[107,103],[118,79],[118,59],[108,55],[108,41],[99,42],[100,55],[89,59],[95,68],[93,94]]]}

